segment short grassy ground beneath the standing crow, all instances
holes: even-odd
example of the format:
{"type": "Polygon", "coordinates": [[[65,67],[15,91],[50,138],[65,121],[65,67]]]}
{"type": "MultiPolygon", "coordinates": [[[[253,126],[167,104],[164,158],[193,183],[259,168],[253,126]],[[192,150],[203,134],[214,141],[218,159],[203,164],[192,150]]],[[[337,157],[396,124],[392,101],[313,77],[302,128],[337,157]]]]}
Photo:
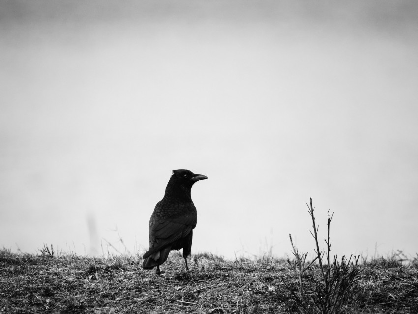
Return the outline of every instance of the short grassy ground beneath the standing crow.
{"type": "MultiPolygon", "coordinates": [[[[371,261],[360,258],[358,273],[346,287],[347,298],[332,313],[418,313],[416,262],[402,263],[399,254],[371,261]]],[[[38,255],[0,250],[0,313],[331,311],[321,310],[324,300],[318,289],[323,283],[317,265],[299,278],[293,261],[271,256],[228,261],[197,254],[186,273],[184,260],[174,252],[160,276],[143,270],[141,263],[140,256],[90,258],[56,256],[46,250],[38,255]]]]}

